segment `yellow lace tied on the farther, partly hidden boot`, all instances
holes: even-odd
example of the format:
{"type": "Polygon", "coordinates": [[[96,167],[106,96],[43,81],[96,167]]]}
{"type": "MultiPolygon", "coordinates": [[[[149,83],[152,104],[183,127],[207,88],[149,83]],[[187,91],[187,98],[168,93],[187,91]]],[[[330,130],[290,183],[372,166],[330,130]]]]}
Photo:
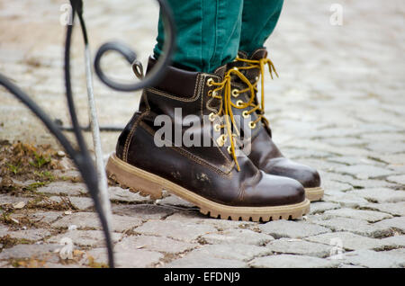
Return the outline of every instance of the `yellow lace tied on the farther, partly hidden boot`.
{"type": "Polygon", "coordinates": [[[257,120],[255,121],[250,121],[249,122],[249,127],[251,129],[254,129],[257,125],[257,122],[264,120],[268,124],[268,120],[265,117],[265,67],[266,65],[268,66],[270,76],[273,79],[273,72],[275,72],[275,76],[278,77],[277,71],[275,70],[275,65],[273,62],[270,60],[270,58],[260,58],[260,59],[246,59],[246,58],[236,58],[237,61],[245,62],[248,65],[245,67],[238,67],[239,70],[247,70],[247,69],[253,69],[253,68],[258,68],[260,70],[260,76],[258,76],[257,81],[254,84],[251,84],[253,86],[254,92],[251,91],[250,85],[248,85],[247,88],[245,89],[234,89],[232,90],[232,94],[235,97],[238,97],[238,94],[243,94],[246,93],[247,91],[251,91],[251,96],[248,104],[244,104],[242,101],[238,101],[238,106],[236,108],[242,109],[246,108],[247,106],[253,107],[249,111],[243,112],[243,116],[247,117],[249,114],[253,112],[257,112],[257,120]],[[259,78],[261,77],[261,101],[260,104],[254,103],[255,95],[258,92],[257,85],[259,82],[259,78]]]}

